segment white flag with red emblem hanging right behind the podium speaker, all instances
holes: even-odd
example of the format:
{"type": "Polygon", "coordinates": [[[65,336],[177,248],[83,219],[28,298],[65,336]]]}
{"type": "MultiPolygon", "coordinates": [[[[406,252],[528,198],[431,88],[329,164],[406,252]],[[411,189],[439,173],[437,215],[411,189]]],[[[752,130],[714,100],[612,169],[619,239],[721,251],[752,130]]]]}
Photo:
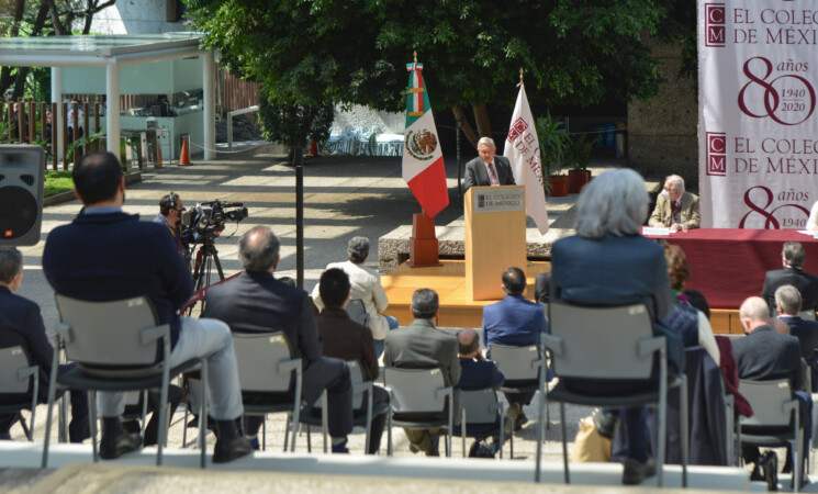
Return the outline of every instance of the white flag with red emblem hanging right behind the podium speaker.
{"type": "Polygon", "coordinates": [[[540,234],[545,235],[548,232],[548,212],[546,211],[546,189],[542,182],[539,141],[523,83],[519,85],[519,94],[514,105],[503,156],[512,162],[514,182],[526,188],[526,214],[537,224],[540,234]]]}

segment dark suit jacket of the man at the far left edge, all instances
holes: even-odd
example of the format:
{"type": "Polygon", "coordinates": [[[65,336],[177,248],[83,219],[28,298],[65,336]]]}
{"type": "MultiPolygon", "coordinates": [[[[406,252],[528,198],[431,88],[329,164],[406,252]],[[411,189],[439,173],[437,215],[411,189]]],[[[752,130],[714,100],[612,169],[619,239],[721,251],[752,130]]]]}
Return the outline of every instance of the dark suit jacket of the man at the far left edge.
{"type": "Polygon", "coordinates": [[[29,363],[40,366],[41,400],[48,397],[54,348],[45,335],[40,306],[0,287],[0,348],[20,345],[29,356],[29,363]]]}

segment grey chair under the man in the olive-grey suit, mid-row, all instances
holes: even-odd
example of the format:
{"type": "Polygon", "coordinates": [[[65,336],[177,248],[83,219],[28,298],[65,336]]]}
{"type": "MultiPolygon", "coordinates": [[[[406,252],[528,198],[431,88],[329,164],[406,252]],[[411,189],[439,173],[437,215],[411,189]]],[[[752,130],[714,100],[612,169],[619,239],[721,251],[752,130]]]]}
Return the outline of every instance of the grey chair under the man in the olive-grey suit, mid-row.
{"type": "Polygon", "coordinates": [[[453,426],[452,386],[446,386],[440,369],[383,370],[383,384],[389,392],[390,414],[386,424],[389,436],[388,454],[392,456],[392,425],[406,429],[446,427],[446,456],[451,457],[451,433],[453,426]],[[395,414],[402,414],[400,419],[395,414]],[[439,418],[407,418],[403,414],[439,414],[439,418]]]}

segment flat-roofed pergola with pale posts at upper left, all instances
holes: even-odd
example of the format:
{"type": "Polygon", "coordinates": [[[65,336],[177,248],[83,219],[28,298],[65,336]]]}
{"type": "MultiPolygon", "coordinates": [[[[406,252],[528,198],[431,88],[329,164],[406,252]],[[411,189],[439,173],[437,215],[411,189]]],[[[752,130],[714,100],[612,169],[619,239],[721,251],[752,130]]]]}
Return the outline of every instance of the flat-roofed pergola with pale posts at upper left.
{"type": "MultiPolygon", "coordinates": [[[[120,154],[120,69],[125,66],[199,57],[202,60],[204,159],[215,158],[215,65],[200,47],[201,33],[0,38],[0,66],[51,67],[52,102],[60,103],[65,67],[105,69],[108,150],[120,154]]],[[[63,105],[53,120],[63,134],[63,105]]],[[[61,153],[61,149],[60,149],[61,153]]]]}

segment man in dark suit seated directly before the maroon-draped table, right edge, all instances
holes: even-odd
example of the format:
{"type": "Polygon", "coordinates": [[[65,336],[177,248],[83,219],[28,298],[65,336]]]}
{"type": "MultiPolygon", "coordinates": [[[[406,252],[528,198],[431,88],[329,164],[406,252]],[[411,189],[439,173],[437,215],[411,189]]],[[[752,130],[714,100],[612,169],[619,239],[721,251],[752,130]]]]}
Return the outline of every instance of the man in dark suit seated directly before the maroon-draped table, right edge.
{"type": "Polygon", "coordinates": [[[784,269],[767,271],[761,289],[761,296],[772,315],[775,315],[775,291],[785,284],[792,284],[800,293],[802,311],[815,311],[818,306],[818,277],[804,271],[806,260],[807,252],[799,242],[784,244],[781,251],[784,269]]]}

